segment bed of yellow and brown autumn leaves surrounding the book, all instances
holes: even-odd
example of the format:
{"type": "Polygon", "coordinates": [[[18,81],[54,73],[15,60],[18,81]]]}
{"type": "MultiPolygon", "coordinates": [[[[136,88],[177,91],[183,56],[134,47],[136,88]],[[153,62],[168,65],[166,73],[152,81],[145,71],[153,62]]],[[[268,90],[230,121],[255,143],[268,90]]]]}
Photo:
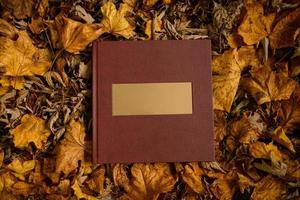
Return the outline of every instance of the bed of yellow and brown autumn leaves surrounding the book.
{"type": "Polygon", "coordinates": [[[299,199],[300,2],[1,0],[0,199],[299,199]],[[91,164],[91,42],[212,40],[215,162],[91,164]]]}

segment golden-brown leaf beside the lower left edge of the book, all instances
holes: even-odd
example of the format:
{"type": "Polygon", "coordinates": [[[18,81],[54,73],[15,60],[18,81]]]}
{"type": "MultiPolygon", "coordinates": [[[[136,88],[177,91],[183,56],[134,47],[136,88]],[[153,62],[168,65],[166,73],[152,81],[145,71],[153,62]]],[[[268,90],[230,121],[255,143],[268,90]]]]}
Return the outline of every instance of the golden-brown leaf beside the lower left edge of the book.
{"type": "Polygon", "coordinates": [[[78,167],[78,161],[84,160],[85,127],[83,122],[72,119],[67,127],[64,139],[56,151],[56,172],[67,176],[78,167]]]}

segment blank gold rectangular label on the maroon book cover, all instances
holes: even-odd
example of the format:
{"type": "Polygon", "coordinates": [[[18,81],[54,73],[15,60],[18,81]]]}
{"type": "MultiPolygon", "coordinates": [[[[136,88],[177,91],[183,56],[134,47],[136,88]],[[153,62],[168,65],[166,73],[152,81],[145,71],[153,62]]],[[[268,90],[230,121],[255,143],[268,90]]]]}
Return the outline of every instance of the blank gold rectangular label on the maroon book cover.
{"type": "Polygon", "coordinates": [[[192,83],[112,84],[112,115],[192,114],[192,83]]]}

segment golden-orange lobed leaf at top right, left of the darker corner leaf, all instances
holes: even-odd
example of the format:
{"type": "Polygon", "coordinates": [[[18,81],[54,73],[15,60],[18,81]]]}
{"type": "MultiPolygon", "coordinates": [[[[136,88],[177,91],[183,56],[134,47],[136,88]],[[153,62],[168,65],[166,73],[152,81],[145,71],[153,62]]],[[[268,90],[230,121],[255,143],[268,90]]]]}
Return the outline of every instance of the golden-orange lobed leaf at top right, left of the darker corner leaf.
{"type": "Polygon", "coordinates": [[[275,14],[264,15],[263,6],[259,3],[246,4],[246,14],[238,28],[238,34],[247,45],[258,43],[268,36],[275,14]]]}

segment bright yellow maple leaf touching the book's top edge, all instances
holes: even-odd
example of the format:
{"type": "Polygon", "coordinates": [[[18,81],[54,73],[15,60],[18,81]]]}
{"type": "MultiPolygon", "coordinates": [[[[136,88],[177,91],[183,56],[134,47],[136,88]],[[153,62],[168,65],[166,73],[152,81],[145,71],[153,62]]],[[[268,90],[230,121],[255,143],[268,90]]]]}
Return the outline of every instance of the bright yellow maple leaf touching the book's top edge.
{"type": "Polygon", "coordinates": [[[106,2],[102,7],[101,11],[103,18],[101,24],[105,28],[105,32],[112,33],[115,35],[121,35],[125,38],[130,38],[134,35],[134,26],[131,25],[125,18],[126,13],[131,10],[128,4],[122,3],[119,10],[111,2],[106,2]]]}

